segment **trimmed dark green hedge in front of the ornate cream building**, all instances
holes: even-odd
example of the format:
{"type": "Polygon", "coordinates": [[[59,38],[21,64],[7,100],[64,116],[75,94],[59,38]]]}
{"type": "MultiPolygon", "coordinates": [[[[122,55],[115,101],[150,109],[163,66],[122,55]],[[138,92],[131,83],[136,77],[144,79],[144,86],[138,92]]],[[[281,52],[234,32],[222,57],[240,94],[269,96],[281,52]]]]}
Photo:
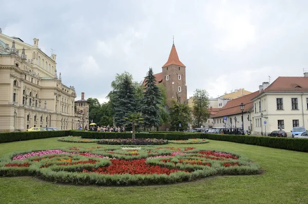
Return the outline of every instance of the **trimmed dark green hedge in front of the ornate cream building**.
{"type": "Polygon", "coordinates": [[[70,131],[37,131],[0,133],[0,143],[68,136],[70,131]]]}

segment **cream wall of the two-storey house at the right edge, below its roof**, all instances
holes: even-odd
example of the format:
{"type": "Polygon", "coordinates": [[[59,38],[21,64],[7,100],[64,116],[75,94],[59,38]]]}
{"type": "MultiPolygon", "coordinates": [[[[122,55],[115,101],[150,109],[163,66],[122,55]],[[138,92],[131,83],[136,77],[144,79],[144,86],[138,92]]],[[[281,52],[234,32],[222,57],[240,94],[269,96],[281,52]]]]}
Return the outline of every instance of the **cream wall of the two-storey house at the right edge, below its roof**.
{"type": "Polygon", "coordinates": [[[261,132],[266,134],[272,131],[277,131],[278,120],[283,120],[284,130],[290,136],[293,128],[293,120],[299,121],[299,126],[308,128],[308,105],[307,105],[308,92],[285,92],[285,93],[264,93],[261,97],[254,100],[254,126],[256,134],[260,135],[261,132]],[[283,99],[283,110],[277,110],[277,98],[283,99]],[[292,98],[298,99],[298,109],[292,109],[292,98]],[[261,102],[261,112],[259,111],[259,102],[261,102]],[[263,117],[261,118],[261,113],[263,117]],[[264,124],[264,120],[266,124],[264,124]],[[262,123],[262,124],[261,124],[262,123]]]}

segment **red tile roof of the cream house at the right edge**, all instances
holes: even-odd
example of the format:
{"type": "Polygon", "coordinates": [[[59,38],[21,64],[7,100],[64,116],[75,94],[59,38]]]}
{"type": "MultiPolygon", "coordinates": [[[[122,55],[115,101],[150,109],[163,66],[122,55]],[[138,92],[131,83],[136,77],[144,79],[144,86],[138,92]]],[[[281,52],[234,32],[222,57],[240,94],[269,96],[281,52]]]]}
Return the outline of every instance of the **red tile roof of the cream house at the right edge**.
{"type": "Polygon", "coordinates": [[[308,77],[278,77],[267,91],[308,91],[308,77]]]}

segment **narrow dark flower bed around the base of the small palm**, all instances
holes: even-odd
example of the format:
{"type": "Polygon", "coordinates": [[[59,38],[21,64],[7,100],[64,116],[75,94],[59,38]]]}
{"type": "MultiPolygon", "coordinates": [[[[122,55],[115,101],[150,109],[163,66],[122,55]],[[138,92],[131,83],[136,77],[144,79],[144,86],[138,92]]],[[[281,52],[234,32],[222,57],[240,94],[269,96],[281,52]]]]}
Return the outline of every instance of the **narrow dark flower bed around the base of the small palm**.
{"type": "Polygon", "coordinates": [[[102,139],[98,144],[109,145],[162,145],[168,144],[168,140],[163,139],[102,139]]]}

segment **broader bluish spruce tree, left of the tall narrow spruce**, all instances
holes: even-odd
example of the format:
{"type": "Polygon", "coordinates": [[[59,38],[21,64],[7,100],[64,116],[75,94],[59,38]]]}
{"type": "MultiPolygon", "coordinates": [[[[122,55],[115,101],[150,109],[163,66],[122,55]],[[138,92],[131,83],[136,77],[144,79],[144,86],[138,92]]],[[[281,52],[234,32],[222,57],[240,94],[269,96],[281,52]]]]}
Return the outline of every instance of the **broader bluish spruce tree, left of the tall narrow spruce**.
{"type": "Polygon", "coordinates": [[[137,107],[134,87],[127,75],[124,76],[119,89],[114,92],[113,96],[113,120],[115,125],[122,126],[126,123],[124,117],[127,118],[131,113],[136,113],[137,107]]]}

